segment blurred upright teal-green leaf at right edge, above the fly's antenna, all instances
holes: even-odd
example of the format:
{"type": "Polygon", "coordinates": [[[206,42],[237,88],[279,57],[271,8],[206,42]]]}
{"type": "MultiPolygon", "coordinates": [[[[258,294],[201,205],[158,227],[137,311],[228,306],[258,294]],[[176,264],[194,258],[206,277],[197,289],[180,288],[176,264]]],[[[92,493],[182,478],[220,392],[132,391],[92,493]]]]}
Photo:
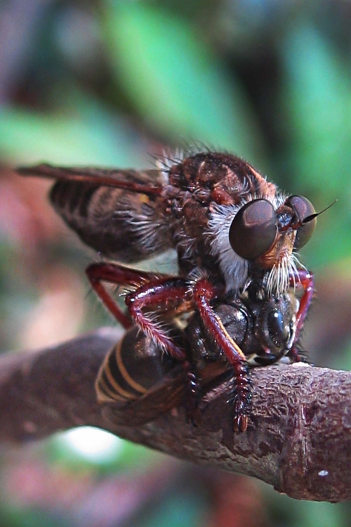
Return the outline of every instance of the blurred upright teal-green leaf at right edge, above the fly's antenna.
{"type": "Polygon", "coordinates": [[[296,178],[317,193],[335,193],[350,170],[349,68],[329,41],[307,25],[289,34],[283,55],[296,178]]]}

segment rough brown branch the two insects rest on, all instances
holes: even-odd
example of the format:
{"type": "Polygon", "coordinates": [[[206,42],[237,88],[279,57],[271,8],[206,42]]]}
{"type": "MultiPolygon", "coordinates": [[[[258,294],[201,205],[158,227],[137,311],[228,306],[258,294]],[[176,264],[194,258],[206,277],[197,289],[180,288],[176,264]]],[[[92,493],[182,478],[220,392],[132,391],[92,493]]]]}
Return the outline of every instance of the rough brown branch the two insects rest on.
{"type": "Polygon", "coordinates": [[[223,382],[201,401],[201,423],[173,409],[140,427],[121,426],[114,405],[98,405],[94,381],[119,338],[100,330],[51,349],[0,358],[0,440],[25,442],[93,425],[185,460],[262,479],[304,500],[351,499],[351,373],[305,365],[256,368],[253,412],[232,431],[223,382]]]}

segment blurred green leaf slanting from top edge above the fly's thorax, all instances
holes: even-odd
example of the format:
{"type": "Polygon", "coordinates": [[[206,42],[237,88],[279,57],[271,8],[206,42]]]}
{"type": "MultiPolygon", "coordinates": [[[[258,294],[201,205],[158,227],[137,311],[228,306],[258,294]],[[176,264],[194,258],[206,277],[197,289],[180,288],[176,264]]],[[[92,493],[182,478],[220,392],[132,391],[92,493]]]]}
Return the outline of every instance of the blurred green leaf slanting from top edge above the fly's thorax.
{"type": "Polygon", "coordinates": [[[178,143],[257,155],[256,123],[237,79],[185,20],[142,2],[105,4],[117,82],[154,129],[178,143]]]}

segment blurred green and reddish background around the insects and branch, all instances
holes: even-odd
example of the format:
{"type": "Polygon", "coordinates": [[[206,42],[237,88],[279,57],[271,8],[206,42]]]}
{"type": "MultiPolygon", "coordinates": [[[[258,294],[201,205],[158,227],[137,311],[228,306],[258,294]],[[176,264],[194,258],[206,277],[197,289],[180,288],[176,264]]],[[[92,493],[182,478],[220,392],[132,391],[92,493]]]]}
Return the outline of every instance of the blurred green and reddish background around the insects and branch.
{"type": "MultiPolygon", "coordinates": [[[[350,27],[346,0],[2,1],[1,349],[112,323],[87,297],[96,256],[55,217],[50,183],[11,167],[145,168],[164,148],[204,143],[317,211],[338,200],[303,249],[317,281],[303,346],[317,365],[348,369],[350,27]]],[[[121,441],[94,457],[71,439],[0,450],[0,526],[350,524],[349,504],[296,502],[121,441]]]]}

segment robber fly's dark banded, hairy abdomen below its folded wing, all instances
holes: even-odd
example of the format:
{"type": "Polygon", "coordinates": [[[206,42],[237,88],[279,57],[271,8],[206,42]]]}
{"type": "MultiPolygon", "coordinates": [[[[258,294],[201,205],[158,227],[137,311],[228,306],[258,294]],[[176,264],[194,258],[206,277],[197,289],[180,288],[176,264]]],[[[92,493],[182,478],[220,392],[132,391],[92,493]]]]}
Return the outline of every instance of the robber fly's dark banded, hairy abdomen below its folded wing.
{"type": "Polygon", "coordinates": [[[169,247],[168,226],[154,197],[58,181],[50,198],[56,212],[79,238],[107,258],[132,263],[169,247]]]}

